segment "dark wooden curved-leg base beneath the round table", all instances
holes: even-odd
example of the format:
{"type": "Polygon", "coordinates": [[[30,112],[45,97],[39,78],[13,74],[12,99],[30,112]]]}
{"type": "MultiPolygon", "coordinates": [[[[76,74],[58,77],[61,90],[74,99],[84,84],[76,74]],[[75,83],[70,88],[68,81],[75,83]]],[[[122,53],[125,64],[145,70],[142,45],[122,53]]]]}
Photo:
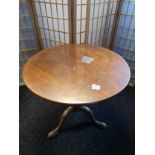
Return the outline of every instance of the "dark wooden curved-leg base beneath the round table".
{"type": "Polygon", "coordinates": [[[58,131],[60,130],[60,128],[64,124],[64,121],[65,121],[66,117],[71,112],[74,112],[74,111],[84,111],[90,117],[90,119],[95,123],[95,125],[97,127],[101,127],[101,128],[106,128],[107,127],[107,125],[104,122],[100,122],[100,121],[96,120],[96,118],[94,116],[94,113],[90,108],[88,108],[86,106],[78,106],[78,107],[77,106],[68,106],[64,110],[64,112],[61,114],[61,117],[60,117],[60,120],[59,120],[59,123],[58,123],[57,127],[55,129],[53,129],[51,132],[48,133],[48,138],[53,138],[58,134],[58,131]]]}

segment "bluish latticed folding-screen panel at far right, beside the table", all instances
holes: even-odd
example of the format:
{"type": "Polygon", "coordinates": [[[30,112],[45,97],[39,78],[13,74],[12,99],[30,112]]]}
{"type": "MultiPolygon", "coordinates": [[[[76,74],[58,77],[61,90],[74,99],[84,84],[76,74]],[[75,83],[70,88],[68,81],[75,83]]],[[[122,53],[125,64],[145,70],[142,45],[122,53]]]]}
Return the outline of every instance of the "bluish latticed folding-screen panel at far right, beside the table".
{"type": "Polygon", "coordinates": [[[135,80],[135,2],[123,0],[114,51],[123,56],[131,69],[131,83],[135,80]]]}

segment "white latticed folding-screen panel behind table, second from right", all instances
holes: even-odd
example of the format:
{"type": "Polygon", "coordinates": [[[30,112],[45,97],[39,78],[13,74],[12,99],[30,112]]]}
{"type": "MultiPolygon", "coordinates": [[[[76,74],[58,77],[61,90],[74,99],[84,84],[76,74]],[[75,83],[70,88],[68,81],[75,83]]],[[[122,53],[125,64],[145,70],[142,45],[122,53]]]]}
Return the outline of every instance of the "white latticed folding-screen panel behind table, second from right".
{"type": "Polygon", "coordinates": [[[109,47],[117,0],[91,0],[87,43],[109,47]]]}

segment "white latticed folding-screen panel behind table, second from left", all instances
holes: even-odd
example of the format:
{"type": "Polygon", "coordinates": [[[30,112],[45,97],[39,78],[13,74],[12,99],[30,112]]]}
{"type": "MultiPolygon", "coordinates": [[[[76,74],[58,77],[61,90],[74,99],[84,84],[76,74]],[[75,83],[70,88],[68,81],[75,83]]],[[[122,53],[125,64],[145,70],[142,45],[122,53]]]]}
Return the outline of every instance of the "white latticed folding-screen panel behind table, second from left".
{"type": "Polygon", "coordinates": [[[34,0],[44,48],[69,44],[69,2],[67,0],[34,0]]]}

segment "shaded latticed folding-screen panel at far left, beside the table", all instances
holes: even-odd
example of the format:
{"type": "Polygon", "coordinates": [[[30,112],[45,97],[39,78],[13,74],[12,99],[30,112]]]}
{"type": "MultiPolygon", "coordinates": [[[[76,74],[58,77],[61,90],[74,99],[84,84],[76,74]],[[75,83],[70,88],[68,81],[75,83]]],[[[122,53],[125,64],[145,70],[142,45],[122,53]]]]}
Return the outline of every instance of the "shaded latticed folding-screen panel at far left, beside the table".
{"type": "Polygon", "coordinates": [[[25,62],[40,50],[34,16],[27,0],[19,1],[19,83],[23,84],[25,62]]]}

